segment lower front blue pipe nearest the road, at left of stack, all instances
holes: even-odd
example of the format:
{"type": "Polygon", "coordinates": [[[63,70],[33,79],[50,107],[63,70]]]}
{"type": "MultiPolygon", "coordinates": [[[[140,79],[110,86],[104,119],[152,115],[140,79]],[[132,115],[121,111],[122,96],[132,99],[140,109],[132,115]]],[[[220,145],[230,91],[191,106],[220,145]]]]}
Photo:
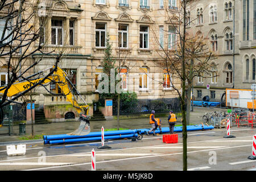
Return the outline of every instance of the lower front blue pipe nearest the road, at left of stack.
{"type": "MultiPolygon", "coordinates": [[[[130,138],[130,137],[138,137],[137,133],[134,134],[126,134],[126,135],[112,135],[106,136],[104,139],[120,139],[120,138],[130,138]]],[[[85,142],[92,140],[101,140],[101,137],[88,137],[88,138],[73,138],[73,139],[62,139],[62,140],[49,140],[49,144],[56,143],[72,143],[72,142],[85,142]]]]}

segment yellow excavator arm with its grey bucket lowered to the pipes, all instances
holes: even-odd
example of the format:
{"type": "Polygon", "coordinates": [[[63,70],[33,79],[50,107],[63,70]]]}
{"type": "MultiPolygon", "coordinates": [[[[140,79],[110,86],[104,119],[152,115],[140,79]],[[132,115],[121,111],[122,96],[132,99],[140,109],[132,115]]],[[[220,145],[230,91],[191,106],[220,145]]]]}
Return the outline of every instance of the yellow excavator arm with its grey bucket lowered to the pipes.
{"type": "MultiPolygon", "coordinates": [[[[54,67],[52,67],[53,69],[54,67]]],[[[51,69],[51,68],[47,68],[47,69],[51,69]]],[[[44,71],[46,71],[47,69],[45,69],[44,71]]],[[[25,90],[29,89],[32,85],[35,85],[36,83],[38,83],[39,81],[43,80],[45,77],[43,76],[43,72],[41,71],[39,73],[35,73],[34,75],[27,77],[21,81],[16,81],[14,82],[13,85],[10,86],[10,88],[7,91],[7,97],[12,97],[15,96],[15,94],[18,93],[22,93],[25,90]],[[31,79],[31,77],[37,75],[36,78],[31,79]]],[[[59,67],[57,67],[56,71],[53,72],[53,74],[51,76],[48,76],[40,85],[46,85],[49,84],[49,82],[56,82],[57,85],[59,85],[59,88],[62,90],[62,93],[64,94],[64,96],[66,97],[67,101],[71,102],[71,104],[73,105],[73,107],[75,107],[77,113],[79,113],[79,121],[80,121],[80,126],[77,130],[73,131],[72,133],[69,133],[69,135],[87,135],[90,133],[90,116],[89,114],[89,105],[86,104],[84,98],[82,98],[82,96],[80,95],[80,93],[78,92],[78,90],[76,90],[75,86],[72,84],[72,82],[69,80],[69,78],[67,77],[67,74],[60,69],[59,67]],[[84,102],[84,105],[79,105],[75,94],[72,93],[72,90],[75,89],[76,93],[79,95],[79,97],[81,98],[81,100],[84,102]],[[82,114],[82,110],[84,110],[84,114],[82,114]]],[[[4,93],[6,89],[5,85],[0,87],[0,93],[4,93]]],[[[0,95],[1,97],[1,95],[0,95]]],[[[0,121],[1,121],[1,125],[3,122],[3,110],[2,108],[1,112],[0,112],[0,121]]]]}

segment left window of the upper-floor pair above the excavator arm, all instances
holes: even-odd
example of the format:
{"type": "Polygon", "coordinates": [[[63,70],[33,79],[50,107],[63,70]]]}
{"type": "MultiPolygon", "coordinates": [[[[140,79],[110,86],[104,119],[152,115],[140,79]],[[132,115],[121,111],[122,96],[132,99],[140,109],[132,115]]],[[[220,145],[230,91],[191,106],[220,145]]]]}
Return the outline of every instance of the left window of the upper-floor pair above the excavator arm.
{"type": "Polygon", "coordinates": [[[51,20],[51,43],[52,45],[63,45],[63,20],[51,20]]]}

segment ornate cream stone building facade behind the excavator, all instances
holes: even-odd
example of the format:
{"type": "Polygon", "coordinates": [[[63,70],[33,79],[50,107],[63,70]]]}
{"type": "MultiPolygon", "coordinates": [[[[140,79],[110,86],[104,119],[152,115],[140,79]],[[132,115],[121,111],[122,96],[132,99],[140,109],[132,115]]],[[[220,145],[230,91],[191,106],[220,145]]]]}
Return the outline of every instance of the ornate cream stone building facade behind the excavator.
{"type": "MultiPolygon", "coordinates": [[[[81,96],[91,106],[90,115],[93,115],[92,104],[98,100],[97,78],[102,73],[108,34],[117,66],[118,61],[125,60],[120,67],[123,90],[135,91],[138,99],[176,97],[170,84],[179,84],[179,81],[171,80],[159,68],[157,61],[160,59],[160,48],[156,43],[161,37],[163,45],[168,46],[168,37],[176,39],[174,33],[170,32],[171,23],[166,16],[167,13],[175,15],[179,6],[176,1],[42,1],[42,7],[49,9],[46,15],[38,17],[47,17],[43,28],[42,52],[50,53],[43,57],[40,53],[31,56],[28,65],[42,59],[33,72],[42,71],[53,66],[57,53],[64,52],[65,56],[59,67],[67,72],[81,96]]],[[[48,89],[60,93],[56,84],[49,84],[48,89]]],[[[46,118],[62,121],[72,113],[77,117],[76,111],[67,106],[69,103],[63,96],[54,96],[38,87],[34,90],[33,97],[35,104],[44,110],[46,118]]],[[[82,104],[82,100],[79,97],[77,99],[82,104]]]]}

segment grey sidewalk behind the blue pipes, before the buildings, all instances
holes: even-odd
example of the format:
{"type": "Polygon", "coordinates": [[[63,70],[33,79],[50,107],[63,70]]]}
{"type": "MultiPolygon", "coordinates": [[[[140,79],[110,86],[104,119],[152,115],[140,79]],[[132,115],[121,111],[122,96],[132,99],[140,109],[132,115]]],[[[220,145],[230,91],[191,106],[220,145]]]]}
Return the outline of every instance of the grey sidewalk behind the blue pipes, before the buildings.
{"type": "MultiPolygon", "coordinates": [[[[214,107],[194,107],[194,111],[191,112],[191,121],[190,125],[199,125],[201,124],[202,117],[204,113],[220,110],[220,108],[214,107]]],[[[225,109],[226,110],[226,109],[225,109]]],[[[162,127],[168,127],[167,118],[160,118],[162,120],[162,127]]],[[[67,134],[75,131],[80,125],[80,122],[55,122],[55,123],[46,123],[46,124],[37,124],[34,125],[35,135],[57,135],[57,134],[67,134]]],[[[181,117],[177,118],[177,124],[181,125],[181,117]]],[[[101,131],[101,127],[104,126],[104,129],[117,128],[117,120],[114,121],[90,121],[91,132],[101,131]]],[[[120,120],[120,126],[123,129],[148,129],[150,125],[148,123],[148,118],[136,118],[136,119],[122,119],[120,120]]],[[[22,135],[19,135],[19,126],[13,126],[14,135],[9,136],[0,135],[0,145],[6,143],[22,143],[23,141],[19,138],[22,135]]],[[[31,125],[26,125],[26,135],[31,135],[31,125]]],[[[40,142],[43,140],[30,140],[31,143],[40,142]]],[[[28,142],[28,140],[26,140],[28,142]]]]}

